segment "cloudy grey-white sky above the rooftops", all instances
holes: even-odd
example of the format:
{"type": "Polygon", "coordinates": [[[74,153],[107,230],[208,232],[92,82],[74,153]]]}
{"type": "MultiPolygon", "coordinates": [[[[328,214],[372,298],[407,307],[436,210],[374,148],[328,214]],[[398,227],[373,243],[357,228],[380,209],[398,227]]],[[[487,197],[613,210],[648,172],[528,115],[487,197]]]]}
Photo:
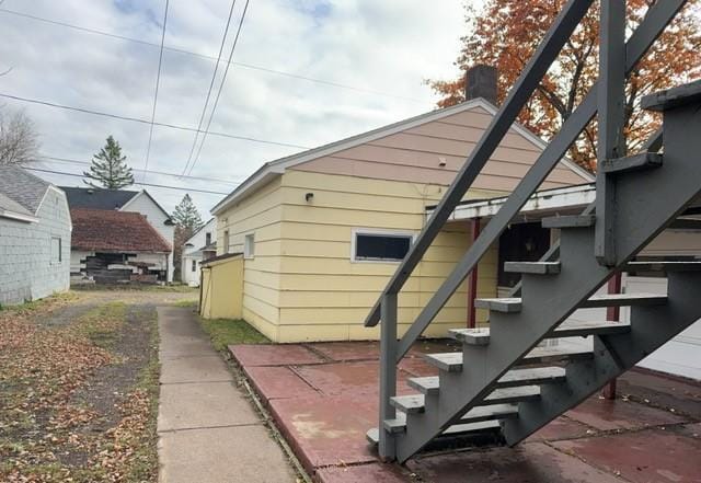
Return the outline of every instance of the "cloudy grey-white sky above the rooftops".
{"type": "MultiPolygon", "coordinates": [[[[235,2],[223,59],[245,3],[235,2]]],[[[250,0],[210,126],[228,136],[208,136],[186,169],[195,133],[157,125],[145,173],[164,9],[165,0],[0,3],[0,72],[11,69],[0,77],[0,105],[34,119],[43,156],[87,162],[112,134],[137,181],[228,193],[265,161],[433,110],[436,99],[423,80],[455,76],[464,34],[463,0],[430,7],[425,0],[250,0]],[[212,180],[160,174],[184,171],[212,180]]],[[[230,0],[170,0],[157,123],[197,127],[230,9],[230,0]]],[[[222,61],[205,127],[225,69],[222,61]]],[[[81,173],[87,166],[45,160],[36,168],[81,173]]],[[[79,177],[37,174],[82,185],[79,177]]],[[[147,188],[166,209],[184,194],[147,188]]],[[[203,216],[222,197],[192,196],[203,216]]]]}

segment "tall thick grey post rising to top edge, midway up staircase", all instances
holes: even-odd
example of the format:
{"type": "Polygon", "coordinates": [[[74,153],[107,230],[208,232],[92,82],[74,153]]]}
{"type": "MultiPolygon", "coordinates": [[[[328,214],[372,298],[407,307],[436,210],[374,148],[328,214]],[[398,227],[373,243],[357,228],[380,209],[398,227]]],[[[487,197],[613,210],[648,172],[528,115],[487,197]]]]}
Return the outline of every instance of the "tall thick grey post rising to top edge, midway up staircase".
{"type": "Polygon", "coordinates": [[[606,160],[625,156],[625,2],[601,0],[599,30],[598,157],[595,254],[605,266],[616,255],[616,177],[604,172],[606,160]]]}

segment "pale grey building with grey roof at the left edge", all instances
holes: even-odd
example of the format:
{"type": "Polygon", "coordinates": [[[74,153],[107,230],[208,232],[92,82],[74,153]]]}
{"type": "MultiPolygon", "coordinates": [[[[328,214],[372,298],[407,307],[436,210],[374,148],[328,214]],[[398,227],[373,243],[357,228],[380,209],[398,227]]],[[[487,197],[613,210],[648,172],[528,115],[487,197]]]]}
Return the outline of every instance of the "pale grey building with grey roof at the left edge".
{"type": "Polygon", "coordinates": [[[0,303],[67,290],[71,221],[66,194],[16,166],[0,166],[0,303]]]}

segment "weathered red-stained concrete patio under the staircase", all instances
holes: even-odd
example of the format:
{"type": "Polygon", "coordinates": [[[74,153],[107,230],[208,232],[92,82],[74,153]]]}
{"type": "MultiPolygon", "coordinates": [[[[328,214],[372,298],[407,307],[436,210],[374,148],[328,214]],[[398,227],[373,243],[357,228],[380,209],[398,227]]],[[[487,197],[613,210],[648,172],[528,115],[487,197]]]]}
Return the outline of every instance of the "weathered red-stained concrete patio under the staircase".
{"type": "MultiPolygon", "coordinates": [[[[435,375],[421,357],[457,347],[421,343],[405,380],[435,375]]],[[[701,483],[701,384],[631,371],[619,399],[593,396],[516,448],[422,453],[381,463],[365,439],[377,426],[377,343],[231,346],[278,427],[319,482],[701,483]]]]}

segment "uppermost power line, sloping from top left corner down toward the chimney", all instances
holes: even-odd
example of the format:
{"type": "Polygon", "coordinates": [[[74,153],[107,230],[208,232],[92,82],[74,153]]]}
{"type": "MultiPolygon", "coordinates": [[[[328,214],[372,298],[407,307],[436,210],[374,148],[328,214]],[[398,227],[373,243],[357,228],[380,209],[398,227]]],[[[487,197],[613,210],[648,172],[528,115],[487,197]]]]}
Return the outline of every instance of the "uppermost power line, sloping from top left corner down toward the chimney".
{"type": "MultiPolygon", "coordinates": [[[[70,23],[66,23],[66,22],[59,22],[59,21],[45,19],[45,18],[37,16],[37,15],[31,15],[28,13],[16,12],[14,10],[0,9],[0,12],[9,13],[11,15],[22,16],[24,19],[34,20],[36,22],[44,22],[44,23],[51,24],[51,25],[72,28],[72,30],[77,30],[77,31],[80,31],[80,32],[85,32],[85,33],[89,33],[89,34],[103,35],[105,37],[112,37],[112,38],[116,38],[116,39],[119,39],[119,41],[133,42],[133,43],[136,43],[136,44],[148,45],[148,46],[151,46],[151,47],[160,47],[159,44],[156,44],[153,42],[141,41],[140,38],[128,37],[128,36],[125,36],[125,35],[113,34],[113,33],[110,33],[110,32],[99,31],[99,30],[95,30],[95,28],[89,28],[89,27],[74,25],[74,24],[70,24],[70,23]]],[[[192,51],[192,50],[185,50],[185,49],[182,49],[182,48],[168,47],[168,46],[164,46],[163,48],[165,50],[173,51],[173,53],[179,53],[179,54],[184,54],[184,55],[188,55],[188,56],[199,57],[199,58],[203,58],[203,59],[216,60],[216,57],[214,57],[214,56],[209,56],[209,55],[206,55],[206,54],[198,54],[198,53],[195,53],[195,51],[192,51]]],[[[393,99],[399,99],[399,100],[404,100],[404,101],[410,101],[410,102],[415,102],[415,103],[425,103],[425,101],[422,101],[420,99],[391,94],[389,92],[376,91],[376,90],[372,90],[372,89],[358,88],[358,87],[348,85],[348,84],[344,84],[344,83],[341,83],[341,82],[329,81],[329,80],[324,80],[324,79],[315,79],[315,78],[308,77],[308,76],[301,76],[301,74],[297,74],[297,73],[286,72],[284,70],[276,70],[276,69],[271,69],[271,68],[267,68],[267,67],[255,66],[253,64],[245,64],[245,62],[231,62],[231,64],[237,66],[237,67],[242,67],[244,69],[258,70],[261,72],[267,72],[267,73],[273,73],[273,74],[276,74],[276,76],[289,77],[289,78],[292,78],[292,79],[299,79],[299,80],[303,80],[303,81],[308,81],[308,82],[314,82],[314,83],[324,84],[324,85],[329,85],[329,87],[333,87],[333,88],[346,89],[346,90],[349,90],[349,91],[363,92],[363,93],[366,93],[366,94],[381,95],[381,96],[384,96],[384,97],[393,97],[393,99]]]]}

